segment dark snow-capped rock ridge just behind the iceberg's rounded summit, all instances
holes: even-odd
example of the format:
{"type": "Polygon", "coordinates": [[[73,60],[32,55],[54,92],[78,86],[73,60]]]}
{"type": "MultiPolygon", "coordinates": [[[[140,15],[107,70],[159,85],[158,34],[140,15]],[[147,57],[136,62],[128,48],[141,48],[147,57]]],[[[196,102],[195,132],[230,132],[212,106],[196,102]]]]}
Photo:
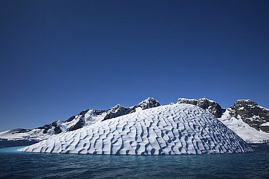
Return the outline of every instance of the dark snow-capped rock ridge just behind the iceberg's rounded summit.
{"type": "Polygon", "coordinates": [[[206,98],[201,98],[199,100],[179,98],[177,100],[177,103],[193,104],[193,105],[199,106],[203,109],[208,110],[209,113],[211,113],[216,118],[221,117],[222,110],[223,110],[221,109],[221,106],[218,103],[216,103],[215,101],[206,99],[206,98]]]}

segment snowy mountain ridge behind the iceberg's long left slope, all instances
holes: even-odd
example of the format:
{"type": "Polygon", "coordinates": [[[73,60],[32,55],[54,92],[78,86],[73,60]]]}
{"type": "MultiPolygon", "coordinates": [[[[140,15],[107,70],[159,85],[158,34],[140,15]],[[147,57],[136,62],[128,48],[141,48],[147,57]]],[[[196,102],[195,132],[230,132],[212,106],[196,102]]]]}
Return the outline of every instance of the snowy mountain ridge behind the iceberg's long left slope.
{"type": "Polygon", "coordinates": [[[70,117],[66,121],[54,121],[35,129],[18,128],[0,132],[0,140],[44,140],[62,132],[73,131],[83,126],[94,124],[97,121],[105,121],[111,118],[134,113],[136,110],[144,110],[157,106],[160,106],[160,103],[157,100],[148,98],[131,107],[124,107],[117,104],[108,110],[87,109],[70,117]]]}

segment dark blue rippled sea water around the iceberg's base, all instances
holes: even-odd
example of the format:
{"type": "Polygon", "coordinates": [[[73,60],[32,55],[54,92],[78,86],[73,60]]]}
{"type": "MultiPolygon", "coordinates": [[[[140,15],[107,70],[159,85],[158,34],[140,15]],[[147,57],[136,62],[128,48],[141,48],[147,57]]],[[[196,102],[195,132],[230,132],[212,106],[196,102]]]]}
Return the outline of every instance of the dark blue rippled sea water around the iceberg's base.
{"type": "Polygon", "coordinates": [[[269,178],[269,145],[204,155],[77,155],[0,148],[0,178],[269,178]]]}

